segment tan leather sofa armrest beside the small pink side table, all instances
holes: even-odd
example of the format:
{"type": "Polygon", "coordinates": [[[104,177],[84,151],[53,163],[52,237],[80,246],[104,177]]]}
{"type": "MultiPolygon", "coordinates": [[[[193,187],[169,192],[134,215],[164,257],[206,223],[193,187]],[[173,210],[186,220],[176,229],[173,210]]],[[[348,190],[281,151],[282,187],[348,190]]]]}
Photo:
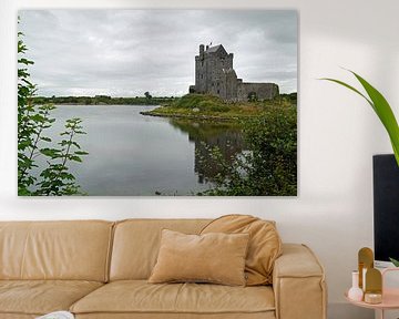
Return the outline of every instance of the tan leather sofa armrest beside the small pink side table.
{"type": "Polygon", "coordinates": [[[327,318],[325,271],[307,246],[283,245],[274,266],[273,289],[277,319],[327,318]]]}

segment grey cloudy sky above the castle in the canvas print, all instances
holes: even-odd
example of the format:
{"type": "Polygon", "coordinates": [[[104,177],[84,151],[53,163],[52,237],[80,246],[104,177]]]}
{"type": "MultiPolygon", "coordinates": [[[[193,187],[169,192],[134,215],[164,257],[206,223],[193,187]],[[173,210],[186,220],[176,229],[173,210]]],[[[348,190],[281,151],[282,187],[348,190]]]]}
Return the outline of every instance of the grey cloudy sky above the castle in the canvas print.
{"type": "Polygon", "coordinates": [[[234,53],[245,82],[297,90],[296,11],[24,10],[39,95],[183,95],[201,43],[234,53]]]}

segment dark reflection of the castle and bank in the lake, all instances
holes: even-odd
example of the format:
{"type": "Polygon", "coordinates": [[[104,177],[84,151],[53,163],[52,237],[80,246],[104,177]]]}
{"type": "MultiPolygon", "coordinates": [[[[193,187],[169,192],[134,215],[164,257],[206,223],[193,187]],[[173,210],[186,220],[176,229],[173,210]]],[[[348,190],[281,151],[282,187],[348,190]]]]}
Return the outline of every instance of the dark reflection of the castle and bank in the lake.
{"type": "Polygon", "coordinates": [[[221,173],[219,163],[209,154],[217,147],[224,163],[232,164],[236,155],[245,150],[242,127],[236,123],[207,123],[193,120],[171,120],[171,125],[188,135],[195,145],[194,172],[197,182],[205,184],[221,173]]]}

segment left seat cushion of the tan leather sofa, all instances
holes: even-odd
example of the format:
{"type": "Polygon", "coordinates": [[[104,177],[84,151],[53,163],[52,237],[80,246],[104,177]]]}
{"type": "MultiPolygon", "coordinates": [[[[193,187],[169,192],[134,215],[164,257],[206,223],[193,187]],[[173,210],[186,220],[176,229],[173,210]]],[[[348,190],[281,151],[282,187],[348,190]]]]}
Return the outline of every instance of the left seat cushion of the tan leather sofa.
{"type": "Polygon", "coordinates": [[[0,280],[0,316],[68,310],[73,302],[102,285],[80,280],[0,280]]]}

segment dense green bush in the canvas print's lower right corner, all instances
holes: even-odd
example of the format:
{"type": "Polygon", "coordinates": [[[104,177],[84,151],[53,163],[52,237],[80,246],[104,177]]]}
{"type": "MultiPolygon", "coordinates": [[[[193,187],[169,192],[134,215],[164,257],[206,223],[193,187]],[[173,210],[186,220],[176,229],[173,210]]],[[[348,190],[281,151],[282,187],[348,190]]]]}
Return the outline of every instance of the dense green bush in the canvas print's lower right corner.
{"type": "Polygon", "coordinates": [[[226,161],[207,147],[217,163],[214,187],[201,195],[295,196],[297,194],[296,107],[269,110],[243,121],[247,152],[226,161]],[[232,164],[233,163],[233,164],[232,164]]]}

